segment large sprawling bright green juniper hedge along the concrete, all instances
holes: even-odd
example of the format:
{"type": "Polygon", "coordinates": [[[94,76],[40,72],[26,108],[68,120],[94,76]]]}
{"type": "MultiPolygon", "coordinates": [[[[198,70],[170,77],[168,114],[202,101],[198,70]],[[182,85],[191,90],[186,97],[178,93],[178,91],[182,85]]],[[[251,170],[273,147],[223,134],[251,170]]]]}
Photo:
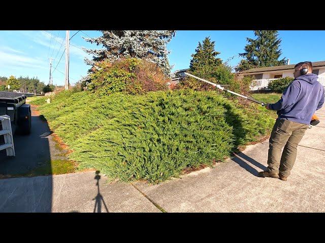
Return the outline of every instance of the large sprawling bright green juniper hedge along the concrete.
{"type": "Polygon", "coordinates": [[[32,101],[70,146],[80,169],[111,179],[158,183],[188,167],[211,166],[270,131],[274,118],[255,104],[241,109],[214,91],[157,91],[109,96],[61,92],[32,101]]]}

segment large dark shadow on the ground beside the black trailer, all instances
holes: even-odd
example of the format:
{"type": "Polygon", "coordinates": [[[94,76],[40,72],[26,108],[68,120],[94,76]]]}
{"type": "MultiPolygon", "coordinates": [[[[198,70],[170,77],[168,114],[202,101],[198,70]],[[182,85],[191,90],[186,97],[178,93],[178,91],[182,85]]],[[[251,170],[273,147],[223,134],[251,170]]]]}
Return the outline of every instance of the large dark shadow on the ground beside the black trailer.
{"type": "Polygon", "coordinates": [[[0,212],[51,212],[50,134],[47,122],[32,112],[30,134],[13,135],[16,156],[0,151],[0,212]]]}

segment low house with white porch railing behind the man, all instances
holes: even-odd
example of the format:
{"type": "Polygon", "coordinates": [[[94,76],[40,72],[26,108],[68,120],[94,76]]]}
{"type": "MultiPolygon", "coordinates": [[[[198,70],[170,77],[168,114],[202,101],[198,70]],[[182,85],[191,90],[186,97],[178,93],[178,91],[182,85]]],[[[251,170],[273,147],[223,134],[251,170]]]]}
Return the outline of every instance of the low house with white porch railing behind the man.
{"type": "MultiPolygon", "coordinates": [[[[273,80],[281,77],[294,77],[295,65],[281,65],[274,67],[252,68],[243,71],[239,76],[252,75],[255,77],[250,85],[250,90],[268,90],[268,85],[273,80]]],[[[325,86],[325,61],[312,62],[313,73],[318,75],[318,82],[325,86]]]]}

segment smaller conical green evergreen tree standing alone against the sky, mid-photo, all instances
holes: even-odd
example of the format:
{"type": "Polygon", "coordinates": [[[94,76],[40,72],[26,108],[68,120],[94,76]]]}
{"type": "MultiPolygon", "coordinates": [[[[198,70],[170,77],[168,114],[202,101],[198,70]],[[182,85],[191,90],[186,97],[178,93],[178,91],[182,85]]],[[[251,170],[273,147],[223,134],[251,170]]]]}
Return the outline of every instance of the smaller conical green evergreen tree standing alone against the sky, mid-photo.
{"type": "Polygon", "coordinates": [[[222,63],[220,58],[216,56],[220,52],[214,50],[215,42],[211,42],[210,37],[206,37],[203,45],[199,42],[199,46],[192,54],[190,61],[190,71],[198,75],[208,77],[215,71],[216,67],[222,63]]]}

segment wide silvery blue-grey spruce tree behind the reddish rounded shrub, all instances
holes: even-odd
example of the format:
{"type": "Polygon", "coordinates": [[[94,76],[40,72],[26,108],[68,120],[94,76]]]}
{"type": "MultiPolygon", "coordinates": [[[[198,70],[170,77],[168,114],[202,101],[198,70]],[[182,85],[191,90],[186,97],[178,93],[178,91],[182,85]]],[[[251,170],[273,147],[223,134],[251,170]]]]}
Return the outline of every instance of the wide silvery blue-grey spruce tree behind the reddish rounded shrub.
{"type": "MultiPolygon", "coordinates": [[[[84,49],[93,59],[85,59],[94,68],[94,63],[108,60],[115,61],[121,57],[148,59],[158,64],[166,74],[170,74],[167,43],[175,36],[174,30],[101,30],[103,36],[84,38],[91,44],[103,46],[103,49],[84,49]]],[[[96,68],[96,67],[95,67],[96,68]]],[[[88,72],[92,72],[89,69],[88,72]]]]}

